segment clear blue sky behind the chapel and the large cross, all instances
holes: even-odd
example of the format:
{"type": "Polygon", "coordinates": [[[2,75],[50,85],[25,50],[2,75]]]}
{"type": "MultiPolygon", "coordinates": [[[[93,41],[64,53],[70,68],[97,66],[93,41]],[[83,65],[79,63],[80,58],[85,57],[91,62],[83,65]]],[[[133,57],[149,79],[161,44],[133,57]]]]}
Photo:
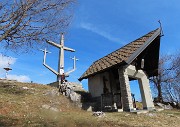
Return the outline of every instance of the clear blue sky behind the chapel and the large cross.
{"type": "MultiPolygon", "coordinates": [[[[162,22],[165,35],[161,39],[161,54],[180,51],[179,5],[179,0],[79,0],[65,33],[65,45],[76,50],[75,53],[65,52],[65,71],[72,68],[70,57],[79,58],[77,70],[68,80],[78,82],[95,60],[158,28],[158,20],[162,22]]],[[[59,42],[59,39],[58,36],[53,41],[59,42]]],[[[52,53],[47,55],[47,64],[57,69],[58,50],[53,47],[49,50],[52,53]]],[[[40,51],[21,55],[3,51],[3,54],[15,58],[11,60],[13,70],[9,75],[43,84],[56,80],[56,76],[42,65],[40,51]]],[[[4,77],[5,72],[2,69],[0,72],[0,77],[4,77]]],[[[82,83],[87,89],[87,80],[82,83]]],[[[137,93],[137,85],[131,86],[132,92],[137,93]]]]}

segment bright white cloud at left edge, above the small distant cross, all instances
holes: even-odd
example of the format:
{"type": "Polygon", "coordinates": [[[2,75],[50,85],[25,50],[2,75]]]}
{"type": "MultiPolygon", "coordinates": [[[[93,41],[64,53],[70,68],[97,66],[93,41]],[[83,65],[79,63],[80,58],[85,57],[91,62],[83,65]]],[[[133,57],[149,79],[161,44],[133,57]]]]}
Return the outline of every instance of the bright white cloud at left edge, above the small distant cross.
{"type": "Polygon", "coordinates": [[[0,68],[8,67],[8,63],[12,65],[15,62],[16,62],[16,58],[4,56],[0,54],[0,68]]]}

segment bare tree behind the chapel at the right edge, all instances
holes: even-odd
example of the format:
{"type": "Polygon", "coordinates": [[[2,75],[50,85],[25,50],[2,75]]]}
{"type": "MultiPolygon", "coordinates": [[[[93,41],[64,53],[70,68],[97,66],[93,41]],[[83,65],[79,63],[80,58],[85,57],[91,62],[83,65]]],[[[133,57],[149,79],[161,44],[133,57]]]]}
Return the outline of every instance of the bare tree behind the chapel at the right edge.
{"type": "Polygon", "coordinates": [[[180,55],[165,55],[159,60],[158,76],[150,78],[158,102],[180,102],[180,55]]]}

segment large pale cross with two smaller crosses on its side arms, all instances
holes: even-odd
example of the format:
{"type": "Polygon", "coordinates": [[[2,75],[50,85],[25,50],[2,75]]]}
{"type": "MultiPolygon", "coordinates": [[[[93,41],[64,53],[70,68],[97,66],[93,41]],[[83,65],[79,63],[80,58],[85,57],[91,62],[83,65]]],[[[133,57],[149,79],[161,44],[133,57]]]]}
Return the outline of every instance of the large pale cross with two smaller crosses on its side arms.
{"type": "MultiPolygon", "coordinates": [[[[68,76],[71,72],[75,71],[75,62],[73,65],[73,69],[70,70],[69,72],[65,73],[64,72],[64,51],[71,51],[71,52],[75,52],[74,49],[68,48],[64,46],[64,34],[61,34],[61,40],[60,40],[60,44],[57,44],[53,41],[46,41],[47,43],[49,43],[50,45],[53,45],[57,48],[59,48],[59,60],[58,60],[58,71],[55,71],[54,69],[52,69],[50,66],[48,66],[46,64],[46,53],[49,53],[46,49],[42,50],[44,52],[44,59],[43,59],[43,65],[48,68],[50,71],[52,71],[54,74],[57,75],[57,81],[61,80],[61,76],[68,76]]],[[[75,57],[74,57],[75,58],[75,57]]],[[[75,59],[74,61],[76,61],[77,59],[75,59]]]]}

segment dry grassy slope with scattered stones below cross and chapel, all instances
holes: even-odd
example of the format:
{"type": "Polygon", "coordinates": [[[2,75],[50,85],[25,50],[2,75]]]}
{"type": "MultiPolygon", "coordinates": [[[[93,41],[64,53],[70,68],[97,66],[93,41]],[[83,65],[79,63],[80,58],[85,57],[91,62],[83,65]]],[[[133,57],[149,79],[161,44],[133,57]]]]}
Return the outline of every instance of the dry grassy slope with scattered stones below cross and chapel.
{"type": "Polygon", "coordinates": [[[0,82],[0,127],[180,126],[180,111],[177,110],[140,115],[106,113],[105,117],[97,118],[57,93],[56,89],[44,85],[0,82]],[[58,111],[43,108],[44,105],[58,111]]]}

